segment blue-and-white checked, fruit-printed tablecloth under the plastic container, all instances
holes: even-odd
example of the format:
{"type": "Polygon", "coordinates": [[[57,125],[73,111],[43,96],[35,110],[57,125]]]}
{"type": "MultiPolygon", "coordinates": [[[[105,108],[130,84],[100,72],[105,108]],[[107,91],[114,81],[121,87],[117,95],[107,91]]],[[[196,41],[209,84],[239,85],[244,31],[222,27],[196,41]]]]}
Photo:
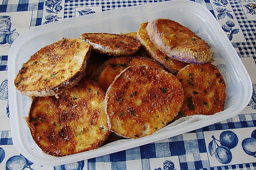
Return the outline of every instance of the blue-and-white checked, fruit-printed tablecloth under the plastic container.
{"type": "MultiPolygon", "coordinates": [[[[237,116],[155,143],[56,167],[45,167],[30,162],[13,145],[7,92],[7,60],[10,44],[18,34],[21,35],[38,25],[54,22],[56,19],[63,20],[94,12],[157,2],[161,0],[0,0],[0,20],[1,16],[10,16],[10,31],[13,32],[8,42],[3,41],[4,35],[0,32],[0,169],[154,170],[165,169],[166,163],[171,162],[174,164],[174,169],[182,170],[256,169],[256,158],[254,155],[246,154],[241,146],[243,139],[250,138],[256,130],[256,1],[253,0],[195,0],[208,8],[220,25],[227,26],[233,23],[232,30],[226,32],[226,35],[245,65],[253,83],[251,101],[237,116]],[[227,22],[228,20],[230,21],[227,22]],[[220,145],[218,141],[220,134],[227,130],[238,136],[238,145],[230,149],[231,162],[223,164],[225,162],[221,163],[217,159],[218,154],[214,147],[220,145]],[[215,141],[212,136],[216,138],[215,141]]],[[[1,24],[0,22],[0,31],[4,27],[1,24]]],[[[222,26],[222,29],[225,31],[225,27],[222,26]]],[[[251,149],[256,151],[256,148],[251,149]]]]}

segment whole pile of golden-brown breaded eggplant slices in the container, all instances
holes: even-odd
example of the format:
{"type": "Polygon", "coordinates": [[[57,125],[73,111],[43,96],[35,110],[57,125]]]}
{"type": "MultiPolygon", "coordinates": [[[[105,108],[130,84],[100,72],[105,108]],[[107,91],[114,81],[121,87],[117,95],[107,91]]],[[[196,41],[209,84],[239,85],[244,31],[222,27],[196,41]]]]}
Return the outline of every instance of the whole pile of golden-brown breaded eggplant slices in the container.
{"type": "Polygon", "coordinates": [[[226,86],[212,61],[194,32],[155,19],[138,32],[84,33],[47,45],[14,84],[33,99],[26,121],[34,141],[65,156],[153,134],[177,117],[223,111],[226,86]]]}

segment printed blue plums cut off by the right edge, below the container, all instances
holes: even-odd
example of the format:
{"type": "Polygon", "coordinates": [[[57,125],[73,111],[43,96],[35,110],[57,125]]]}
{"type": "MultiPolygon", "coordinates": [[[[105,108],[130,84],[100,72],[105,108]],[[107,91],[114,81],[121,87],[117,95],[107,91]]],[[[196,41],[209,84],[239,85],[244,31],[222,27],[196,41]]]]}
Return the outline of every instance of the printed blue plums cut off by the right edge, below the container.
{"type": "Polygon", "coordinates": [[[242,141],[243,151],[256,158],[256,129],[252,131],[250,138],[245,138],[242,141]]]}

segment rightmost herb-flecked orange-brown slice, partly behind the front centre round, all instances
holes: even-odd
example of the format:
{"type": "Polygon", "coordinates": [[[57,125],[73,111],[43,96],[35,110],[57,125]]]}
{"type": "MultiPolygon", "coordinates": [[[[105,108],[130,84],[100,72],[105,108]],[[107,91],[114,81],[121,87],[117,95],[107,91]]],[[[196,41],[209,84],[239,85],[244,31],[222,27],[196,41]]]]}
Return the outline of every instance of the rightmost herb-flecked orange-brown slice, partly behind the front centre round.
{"type": "Polygon", "coordinates": [[[223,111],[226,85],[216,66],[191,64],[181,69],[176,77],[184,90],[182,115],[212,115],[223,111]]]}

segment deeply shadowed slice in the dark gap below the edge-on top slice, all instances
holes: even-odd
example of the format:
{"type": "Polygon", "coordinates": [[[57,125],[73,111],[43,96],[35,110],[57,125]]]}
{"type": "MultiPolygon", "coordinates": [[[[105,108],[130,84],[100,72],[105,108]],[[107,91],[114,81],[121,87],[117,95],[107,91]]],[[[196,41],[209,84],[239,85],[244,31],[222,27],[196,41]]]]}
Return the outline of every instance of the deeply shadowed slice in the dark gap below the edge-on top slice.
{"type": "Polygon", "coordinates": [[[109,55],[99,54],[92,51],[90,56],[90,61],[87,62],[87,66],[86,66],[86,77],[93,80],[98,67],[101,66],[109,58],[110,58],[109,55]]]}

